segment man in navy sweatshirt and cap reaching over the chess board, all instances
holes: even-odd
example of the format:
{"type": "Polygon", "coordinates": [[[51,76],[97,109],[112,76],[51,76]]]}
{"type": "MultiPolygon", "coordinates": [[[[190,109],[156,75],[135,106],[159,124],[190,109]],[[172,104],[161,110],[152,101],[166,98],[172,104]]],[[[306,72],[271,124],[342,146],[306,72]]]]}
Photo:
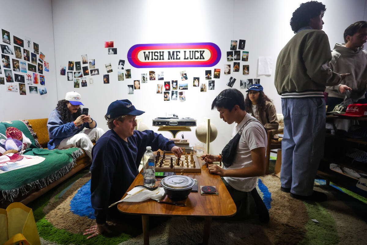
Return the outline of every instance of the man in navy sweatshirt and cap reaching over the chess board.
{"type": "Polygon", "coordinates": [[[92,148],[91,203],[97,225],[86,230],[84,235],[89,235],[87,238],[110,233],[106,224],[109,217],[118,217],[121,221],[137,219],[121,214],[117,206],[110,209],[108,206],[121,199],[138,175],[147,146],[153,151],[162,149],[181,157],[181,148],[161,134],[152,130],[134,130],[137,125],[135,117],[143,113],[129,100],[113,101],[107,109],[105,119],[110,130],[92,148]]]}

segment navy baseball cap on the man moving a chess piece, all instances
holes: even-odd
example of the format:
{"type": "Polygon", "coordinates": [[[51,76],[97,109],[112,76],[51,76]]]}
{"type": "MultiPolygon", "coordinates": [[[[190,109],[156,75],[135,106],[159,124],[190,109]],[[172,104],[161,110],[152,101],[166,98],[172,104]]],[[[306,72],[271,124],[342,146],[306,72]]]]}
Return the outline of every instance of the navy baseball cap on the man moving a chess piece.
{"type": "Polygon", "coordinates": [[[106,116],[108,118],[116,118],[121,115],[139,116],[144,112],[135,109],[130,100],[116,100],[108,106],[106,116]]]}

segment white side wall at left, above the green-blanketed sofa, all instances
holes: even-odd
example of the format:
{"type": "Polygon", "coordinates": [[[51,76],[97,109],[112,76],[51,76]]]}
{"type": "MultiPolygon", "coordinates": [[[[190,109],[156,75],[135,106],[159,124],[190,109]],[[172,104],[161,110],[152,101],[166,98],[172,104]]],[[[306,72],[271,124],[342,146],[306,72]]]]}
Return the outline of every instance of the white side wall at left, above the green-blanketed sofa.
{"type": "MultiPolygon", "coordinates": [[[[57,101],[51,0],[1,0],[0,8],[0,28],[10,32],[12,50],[14,51],[13,35],[23,40],[25,40],[25,37],[30,37],[32,40],[31,48],[26,49],[33,52],[33,42],[38,43],[39,50],[46,55],[45,60],[50,64],[50,72],[43,71],[47,94],[42,96],[39,93],[29,94],[27,83],[26,95],[20,95],[19,92],[7,92],[6,87],[9,84],[7,82],[5,82],[5,85],[0,85],[0,121],[47,118],[56,105],[55,100],[57,101]]],[[[5,44],[2,39],[1,44],[5,44]]],[[[12,58],[15,58],[15,55],[10,55],[10,61],[12,58]]],[[[4,76],[2,66],[1,64],[3,74],[0,76],[4,76]]],[[[26,74],[14,71],[12,73],[13,77],[14,73],[26,74]]],[[[32,74],[32,72],[28,71],[28,74],[32,74]]],[[[17,82],[14,83],[18,84],[17,82]]],[[[34,86],[43,87],[39,84],[34,84],[34,86]]]]}

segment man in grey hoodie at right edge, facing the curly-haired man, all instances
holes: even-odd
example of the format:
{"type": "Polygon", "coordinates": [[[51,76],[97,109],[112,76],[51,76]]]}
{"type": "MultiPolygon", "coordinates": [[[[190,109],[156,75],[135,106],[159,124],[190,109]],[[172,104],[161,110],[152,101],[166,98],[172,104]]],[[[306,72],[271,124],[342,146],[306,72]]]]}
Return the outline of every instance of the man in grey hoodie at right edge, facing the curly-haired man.
{"type": "Polygon", "coordinates": [[[349,72],[350,76],[336,86],[326,87],[327,111],[333,111],[335,105],[344,101],[344,94],[340,87],[344,84],[350,90],[349,98],[353,103],[367,104],[365,98],[367,86],[367,51],[363,50],[367,40],[367,22],[357,21],[344,31],[345,43],[335,43],[331,53],[330,68],[337,73],[349,72]]]}

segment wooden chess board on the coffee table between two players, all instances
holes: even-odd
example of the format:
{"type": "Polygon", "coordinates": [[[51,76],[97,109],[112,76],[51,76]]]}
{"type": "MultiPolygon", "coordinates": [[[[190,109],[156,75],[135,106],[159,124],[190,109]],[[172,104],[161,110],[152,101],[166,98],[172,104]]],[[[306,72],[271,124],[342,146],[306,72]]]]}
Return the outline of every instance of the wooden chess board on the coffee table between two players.
{"type": "Polygon", "coordinates": [[[181,170],[183,169],[184,173],[200,173],[201,165],[196,155],[193,156],[194,161],[195,161],[195,167],[193,167],[193,164],[190,163],[190,154],[187,154],[187,155],[188,155],[189,167],[187,167],[185,155],[183,154],[181,155],[181,158],[180,158],[180,166],[177,166],[177,164],[175,164],[177,157],[174,154],[166,154],[166,158],[163,160],[163,165],[159,167],[159,162],[161,159],[163,159],[163,155],[161,154],[156,164],[156,172],[178,172],[180,173],[181,170]],[[170,167],[171,157],[173,160],[173,168],[170,167]],[[183,166],[181,166],[182,161],[183,161],[183,166]]]}

